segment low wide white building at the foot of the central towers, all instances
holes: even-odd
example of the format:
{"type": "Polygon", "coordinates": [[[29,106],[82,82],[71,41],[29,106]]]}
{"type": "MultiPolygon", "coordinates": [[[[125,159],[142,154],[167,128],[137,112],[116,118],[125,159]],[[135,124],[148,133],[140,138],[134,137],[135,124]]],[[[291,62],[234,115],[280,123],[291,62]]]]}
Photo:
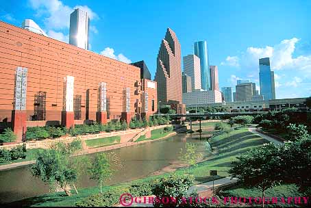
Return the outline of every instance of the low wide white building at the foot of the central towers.
{"type": "Polygon", "coordinates": [[[221,103],[219,90],[194,90],[182,94],[182,103],[186,105],[200,105],[208,103],[221,103]]]}

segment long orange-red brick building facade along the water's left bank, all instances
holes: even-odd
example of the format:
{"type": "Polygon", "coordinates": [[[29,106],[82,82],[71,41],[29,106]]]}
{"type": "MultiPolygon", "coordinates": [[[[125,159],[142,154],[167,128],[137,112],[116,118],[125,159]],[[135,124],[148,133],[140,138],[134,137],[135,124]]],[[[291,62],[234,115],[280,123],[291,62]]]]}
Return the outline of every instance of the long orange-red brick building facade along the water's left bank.
{"type": "Polygon", "coordinates": [[[60,120],[67,121],[66,127],[92,120],[129,121],[146,112],[141,104],[145,92],[147,112],[157,112],[157,84],[141,79],[136,66],[3,22],[0,42],[0,120],[8,125],[17,125],[16,119],[23,127],[60,125],[60,120]],[[27,91],[14,90],[21,86],[20,70],[27,91]],[[16,107],[21,103],[16,94],[25,96],[24,109],[16,107]]]}

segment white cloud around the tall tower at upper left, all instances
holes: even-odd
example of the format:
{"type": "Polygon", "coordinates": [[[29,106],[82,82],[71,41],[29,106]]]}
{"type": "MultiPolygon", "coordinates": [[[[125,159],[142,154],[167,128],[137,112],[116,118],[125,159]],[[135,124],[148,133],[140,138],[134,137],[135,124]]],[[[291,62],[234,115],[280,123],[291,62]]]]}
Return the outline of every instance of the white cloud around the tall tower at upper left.
{"type": "MultiPolygon", "coordinates": [[[[29,0],[29,5],[36,11],[35,16],[42,18],[45,23],[45,29],[51,31],[52,35],[50,36],[61,41],[67,40],[66,42],[68,42],[67,35],[65,34],[68,34],[70,14],[76,8],[81,8],[88,12],[90,20],[99,19],[99,16],[86,5],[76,5],[74,8],[71,8],[60,0],[29,0]],[[64,33],[64,29],[66,29],[66,33],[64,33]]],[[[98,33],[95,26],[90,26],[90,31],[95,34],[98,33]]]]}

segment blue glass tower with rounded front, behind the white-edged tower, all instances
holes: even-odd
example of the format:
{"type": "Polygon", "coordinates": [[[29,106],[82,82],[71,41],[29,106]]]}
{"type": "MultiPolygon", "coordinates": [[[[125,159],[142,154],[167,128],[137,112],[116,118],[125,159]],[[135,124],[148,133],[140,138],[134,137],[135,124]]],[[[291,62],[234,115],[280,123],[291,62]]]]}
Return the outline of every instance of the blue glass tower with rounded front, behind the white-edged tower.
{"type": "Polygon", "coordinates": [[[200,58],[201,66],[201,88],[210,90],[210,70],[208,68],[208,44],[206,41],[195,42],[195,55],[200,58]]]}

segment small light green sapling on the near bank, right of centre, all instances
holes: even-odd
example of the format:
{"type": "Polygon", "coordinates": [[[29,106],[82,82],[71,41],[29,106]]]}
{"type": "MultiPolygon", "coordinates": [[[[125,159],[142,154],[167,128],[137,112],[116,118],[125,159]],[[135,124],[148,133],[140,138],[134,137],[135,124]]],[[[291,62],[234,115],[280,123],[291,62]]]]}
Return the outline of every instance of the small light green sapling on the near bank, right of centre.
{"type": "Polygon", "coordinates": [[[189,174],[189,166],[194,166],[198,159],[202,157],[201,153],[197,152],[197,145],[193,143],[186,143],[186,148],[180,150],[179,159],[187,166],[187,174],[189,174]]]}

